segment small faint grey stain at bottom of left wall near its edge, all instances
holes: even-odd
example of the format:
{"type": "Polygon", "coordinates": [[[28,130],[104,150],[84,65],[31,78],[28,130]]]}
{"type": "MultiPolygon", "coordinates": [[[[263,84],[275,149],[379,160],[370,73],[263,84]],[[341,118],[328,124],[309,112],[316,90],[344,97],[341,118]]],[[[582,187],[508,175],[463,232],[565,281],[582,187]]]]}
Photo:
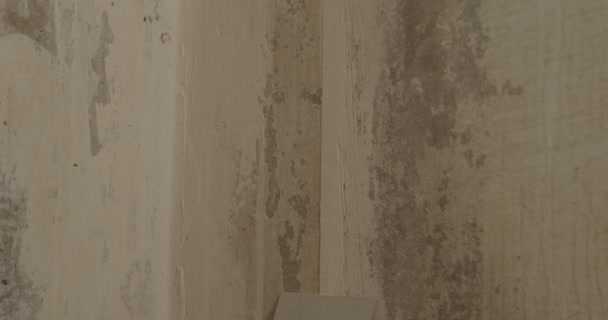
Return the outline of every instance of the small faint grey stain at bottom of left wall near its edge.
{"type": "Polygon", "coordinates": [[[152,319],[152,265],[149,260],[136,261],[120,287],[122,302],[133,319],[152,319]]]}

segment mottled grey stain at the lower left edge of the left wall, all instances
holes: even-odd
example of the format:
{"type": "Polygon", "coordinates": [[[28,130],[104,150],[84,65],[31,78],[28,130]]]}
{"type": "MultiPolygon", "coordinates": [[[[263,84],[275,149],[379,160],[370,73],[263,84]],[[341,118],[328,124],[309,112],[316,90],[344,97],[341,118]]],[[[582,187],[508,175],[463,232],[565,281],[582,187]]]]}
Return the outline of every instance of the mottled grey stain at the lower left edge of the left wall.
{"type": "Polygon", "coordinates": [[[0,319],[36,319],[43,299],[20,263],[27,228],[25,190],[0,175],[0,319]]]}

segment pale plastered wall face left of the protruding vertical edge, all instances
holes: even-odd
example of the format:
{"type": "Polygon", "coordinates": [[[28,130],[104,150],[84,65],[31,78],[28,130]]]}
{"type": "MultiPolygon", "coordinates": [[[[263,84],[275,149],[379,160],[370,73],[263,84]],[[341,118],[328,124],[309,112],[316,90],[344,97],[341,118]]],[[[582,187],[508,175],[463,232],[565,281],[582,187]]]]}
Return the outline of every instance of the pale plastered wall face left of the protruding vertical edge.
{"type": "Polygon", "coordinates": [[[0,1],[0,319],[167,319],[175,9],[0,1]]]}

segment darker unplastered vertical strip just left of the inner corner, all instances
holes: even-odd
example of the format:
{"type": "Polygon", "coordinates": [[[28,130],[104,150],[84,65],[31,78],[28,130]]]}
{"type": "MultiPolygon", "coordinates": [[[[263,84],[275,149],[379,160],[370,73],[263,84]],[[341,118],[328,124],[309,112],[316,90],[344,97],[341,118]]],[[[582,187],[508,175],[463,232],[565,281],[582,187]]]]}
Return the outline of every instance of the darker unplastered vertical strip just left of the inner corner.
{"type": "Polygon", "coordinates": [[[265,318],[281,291],[318,292],[320,1],[270,1],[266,120],[265,318]],[[276,275],[281,277],[277,278],[276,275]]]}

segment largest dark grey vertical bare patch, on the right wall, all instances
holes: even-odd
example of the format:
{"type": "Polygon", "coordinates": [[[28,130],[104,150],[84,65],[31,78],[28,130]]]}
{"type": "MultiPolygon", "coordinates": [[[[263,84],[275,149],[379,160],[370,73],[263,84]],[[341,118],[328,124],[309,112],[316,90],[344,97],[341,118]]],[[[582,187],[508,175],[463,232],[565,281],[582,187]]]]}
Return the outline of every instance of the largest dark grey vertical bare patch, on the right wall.
{"type": "MultiPolygon", "coordinates": [[[[459,102],[476,107],[496,93],[477,63],[489,40],[480,3],[403,0],[385,8],[387,51],[374,99],[370,166],[377,238],[369,258],[391,320],[481,316],[481,228],[450,225],[448,175],[424,194],[417,169],[432,161],[425,158],[428,148],[452,150],[470,140],[455,129],[459,102]]],[[[483,165],[483,157],[470,158],[483,165]]]]}

